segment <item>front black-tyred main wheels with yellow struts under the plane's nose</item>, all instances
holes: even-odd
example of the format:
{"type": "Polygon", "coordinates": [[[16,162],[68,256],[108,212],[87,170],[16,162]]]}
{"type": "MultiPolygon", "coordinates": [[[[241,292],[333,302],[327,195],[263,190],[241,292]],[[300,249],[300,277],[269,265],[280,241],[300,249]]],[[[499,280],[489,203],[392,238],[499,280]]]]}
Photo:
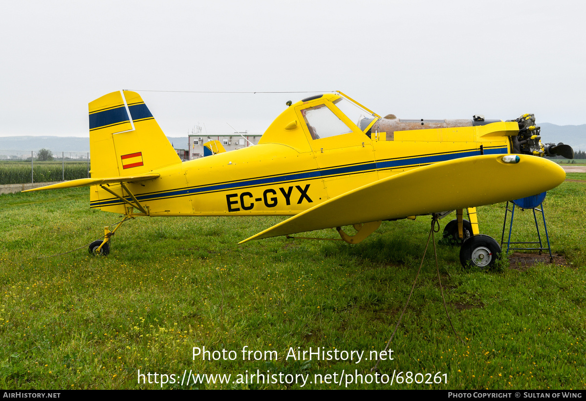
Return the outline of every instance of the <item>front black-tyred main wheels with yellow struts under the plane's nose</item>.
{"type": "Polygon", "coordinates": [[[500,246],[494,238],[479,234],[476,208],[468,208],[468,220],[462,219],[462,209],[456,211],[458,218],[444,227],[444,238],[458,244],[460,263],[464,268],[489,269],[500,258],[500,246]]]}

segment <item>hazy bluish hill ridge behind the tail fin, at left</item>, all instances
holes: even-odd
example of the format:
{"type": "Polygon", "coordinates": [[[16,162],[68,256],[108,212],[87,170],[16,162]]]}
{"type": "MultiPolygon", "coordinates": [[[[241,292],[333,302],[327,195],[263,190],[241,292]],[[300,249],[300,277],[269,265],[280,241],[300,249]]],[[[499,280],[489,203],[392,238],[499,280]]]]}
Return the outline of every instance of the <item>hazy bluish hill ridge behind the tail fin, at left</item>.
{"type": "MultiPolygon", "coordinates": [[[[187,136],[169,138],[175,148],[187,149],[187,136]]],[[[53,153],[59,152],[89,152],[90,138],[77,136],[4,136],[0,137],[0,150],[28,151],[49,149],[53,153]]]]}

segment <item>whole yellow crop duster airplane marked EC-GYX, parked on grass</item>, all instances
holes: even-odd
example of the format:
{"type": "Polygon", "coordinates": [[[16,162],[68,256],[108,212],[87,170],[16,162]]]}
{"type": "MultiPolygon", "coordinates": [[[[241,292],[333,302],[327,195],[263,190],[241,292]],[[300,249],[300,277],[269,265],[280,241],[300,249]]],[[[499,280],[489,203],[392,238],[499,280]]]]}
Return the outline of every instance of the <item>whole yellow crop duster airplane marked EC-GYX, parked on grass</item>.
{"type": "MultiPolygon", "coordinates": [[[[456,210],[444,235],[461,242],[464,265],[485,268],[500,246],[479,234],[475,207],[558,186],[564,170],[540,156],[573,157],[568,145],[542,145],[529,114],[381,117],[339,91],[287,105],[258,145],[225,152],[208,142],[211,156],[181,162],[140,95],[112,92],[89,104],[91,178],[30,191],[90,186],[91,208],[125,220],[292,216],[242,242],[335,227],[356,244],[382,221],[456,210]]],[[[90,252],[107,254],[115,229],[90,252]]]]}

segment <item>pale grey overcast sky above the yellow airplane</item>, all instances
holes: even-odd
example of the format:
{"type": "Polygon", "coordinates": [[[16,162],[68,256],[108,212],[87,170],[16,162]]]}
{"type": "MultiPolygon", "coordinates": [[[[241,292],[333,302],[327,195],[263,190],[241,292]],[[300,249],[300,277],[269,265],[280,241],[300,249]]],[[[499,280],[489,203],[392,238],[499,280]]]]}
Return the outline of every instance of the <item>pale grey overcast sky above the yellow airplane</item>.
{"type": "Polygon", "coordinates": [[[88,136],[88,102],[138,90],[168,136],[263,132],[309,94],[380,115],[586,123],[578,1],[2,1],[0,136],[88,136]]]}

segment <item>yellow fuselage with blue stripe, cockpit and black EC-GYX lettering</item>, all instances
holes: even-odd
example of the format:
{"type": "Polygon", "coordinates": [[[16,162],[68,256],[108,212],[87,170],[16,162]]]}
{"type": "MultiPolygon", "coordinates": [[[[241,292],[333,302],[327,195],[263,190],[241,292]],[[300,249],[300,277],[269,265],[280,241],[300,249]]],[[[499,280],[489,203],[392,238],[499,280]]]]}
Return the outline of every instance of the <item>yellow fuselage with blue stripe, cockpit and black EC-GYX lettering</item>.
{"type": "MultiPolygon", "coordinates": [[[[449,124],[450,120],[420,123],[385,118],[367,120],[360,129],[360,123],[350,121],[335,106],[339,98],[324,95],[298,102],[275,119],[258,145],[153,170],[160,174],[158,179],[128,183],[128,188],[151,216],[295,215],[353,188],[420,166],[512,153],[509,138],[519,132],[517,122],[466,126],[462,121],[470,120],[449,124]],[[335,124],[343,124],[340,130],[349,132],[332,135],[315,128],[325,124],[321,120],[310,125],[309,111],[322,112],[326,107],[339,119],[335,124]],[[403,131],[396,131],[401,124],[403,131]]],[[[122,194],[119,184],[110,189],[122,194]]],[[[373,200],[382,201],[387,200],[373,200]]],[[[127,212],[127,205],[98,186],[92,187],[90,205],[127,212]]]]}

